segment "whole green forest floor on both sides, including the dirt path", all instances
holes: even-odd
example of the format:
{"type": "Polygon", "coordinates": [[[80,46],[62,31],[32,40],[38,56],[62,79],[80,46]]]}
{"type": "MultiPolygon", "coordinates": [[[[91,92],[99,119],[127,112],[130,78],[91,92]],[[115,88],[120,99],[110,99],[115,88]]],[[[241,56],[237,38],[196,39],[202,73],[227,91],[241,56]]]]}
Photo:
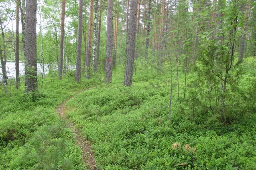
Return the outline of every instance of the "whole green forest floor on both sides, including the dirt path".
{"type": "Polygon", "coordinates": [[[0,86],[0,170],[256,169],[256,103],[246,99],[255,94],[256,84],[247,83],[256,82],[254,67],[245,68],[238,86],[245,94],[239,108],[247,110],[231,110],[239,119],[225,126],[193,85],[199,76],[187,73],[185,86],[182,71],[180,97],[173,76],[169,120],[166,69],[137,65],[132,87],[122,85],[121,66],[111,85],[101,72],[80,83],[47,75],[39,93],[14,90],[15,80],[8,95],[0,86]]]}

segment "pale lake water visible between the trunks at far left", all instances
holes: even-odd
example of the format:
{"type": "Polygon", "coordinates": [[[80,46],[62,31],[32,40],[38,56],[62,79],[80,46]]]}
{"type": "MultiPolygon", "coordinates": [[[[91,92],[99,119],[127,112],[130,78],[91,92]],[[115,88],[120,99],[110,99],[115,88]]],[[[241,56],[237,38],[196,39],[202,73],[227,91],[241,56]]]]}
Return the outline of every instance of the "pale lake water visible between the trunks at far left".
{"type": "MultiPolygon", "coordinates": [[[[1,66],[0,66],[1,67],[1,66]]],[[[15,73],[15,62],[14,61],[7,61],[6,62],[6,71],[7,71],[7,76],[15,78],[16,73],[15,73]]],[[[49,72],[48,66],[45,64],[45,74],[49,72]]],[[[42,64],[37,63],[37,74],[43,73],[43,68],[42,64]]],[[[25,74],[25,63],[20,62],[20,75],[25,74]]],[[[2,79],[2,68],[0,69],[0,79],[2,79]]]]}

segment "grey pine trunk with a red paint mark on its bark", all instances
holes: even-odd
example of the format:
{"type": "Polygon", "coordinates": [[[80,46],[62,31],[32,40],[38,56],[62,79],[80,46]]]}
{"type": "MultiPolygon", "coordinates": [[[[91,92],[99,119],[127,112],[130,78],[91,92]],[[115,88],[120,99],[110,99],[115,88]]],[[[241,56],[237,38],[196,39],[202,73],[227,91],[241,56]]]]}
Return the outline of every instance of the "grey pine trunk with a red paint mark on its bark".
{"type": "Polygon", "coordinates": [[[107,47],[106,47],[106,83],[112,82],[112,51],[113,51],[113,1],[108,0],[108,16],[107,16],[107,47]]]}

